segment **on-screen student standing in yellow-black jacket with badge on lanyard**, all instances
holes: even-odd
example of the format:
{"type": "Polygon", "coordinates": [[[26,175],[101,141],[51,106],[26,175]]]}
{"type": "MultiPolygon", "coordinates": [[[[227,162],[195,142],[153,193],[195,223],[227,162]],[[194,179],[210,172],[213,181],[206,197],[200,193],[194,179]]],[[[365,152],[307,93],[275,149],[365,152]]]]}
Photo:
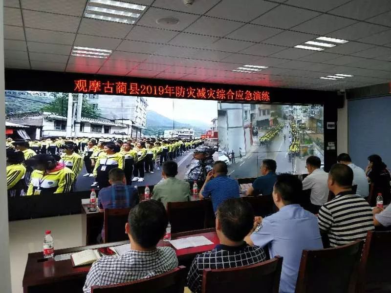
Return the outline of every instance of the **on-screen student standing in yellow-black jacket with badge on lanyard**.
{"type": "Polygon", "coordinates": [[[112,168],[124,168],[124,157],[119,153],[119,146],[107,144],[103,150],[96,159],[93,173],[100,189],[110,186],[109,171],[112,168]]]}

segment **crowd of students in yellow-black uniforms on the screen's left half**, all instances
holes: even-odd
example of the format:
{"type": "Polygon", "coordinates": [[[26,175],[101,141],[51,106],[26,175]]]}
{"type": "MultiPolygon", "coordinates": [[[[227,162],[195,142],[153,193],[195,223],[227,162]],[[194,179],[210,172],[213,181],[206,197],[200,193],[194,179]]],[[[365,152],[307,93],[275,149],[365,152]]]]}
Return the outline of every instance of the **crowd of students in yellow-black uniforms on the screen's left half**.
{"type": "Polygon", "coordinates": [[[66,193],[86,167],[83,176],[95,178],[92,186],[109,186],[109,170],[124,169],[127,184],[142,182],[146,173],[160,169],[202,143],[201,140],[154,138],[6,140],[7,190],[9,196],[66,193]]]}

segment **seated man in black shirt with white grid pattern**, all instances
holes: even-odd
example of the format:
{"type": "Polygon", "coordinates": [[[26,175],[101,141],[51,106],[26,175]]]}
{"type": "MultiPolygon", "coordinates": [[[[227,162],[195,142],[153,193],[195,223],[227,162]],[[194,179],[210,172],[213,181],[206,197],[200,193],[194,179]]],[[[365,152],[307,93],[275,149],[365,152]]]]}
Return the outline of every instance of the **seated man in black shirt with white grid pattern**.
{"type": "Polygon", "coordinates": [[[242,199],[230,198],[218,206],[216,232],[220,244],[212,251],[195,256],[187,276],[192,292],[201,292],[204,269],[236,268],[266,260],[263,249],[251,247],[243,240],[253,225],[254,211],[242,199]]]}

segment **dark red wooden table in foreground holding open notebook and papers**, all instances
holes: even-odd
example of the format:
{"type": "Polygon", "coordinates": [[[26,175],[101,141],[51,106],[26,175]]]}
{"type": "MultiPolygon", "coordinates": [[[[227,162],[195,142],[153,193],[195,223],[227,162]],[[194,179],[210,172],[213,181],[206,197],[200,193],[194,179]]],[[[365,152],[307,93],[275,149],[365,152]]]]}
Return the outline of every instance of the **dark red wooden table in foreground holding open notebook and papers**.
{"type": "MultiPolygon", "coordinates": [[[[172,235],[173,239],[189,236],[205,236],[214,244],[175,250],[179,265],[187,267],[189,267],[196,254],[209,251],[219,243],[215,229],[189,231],[172,235]]],[[[55,256],[126,243],[129,243],[129,241],[61,249],[55,251],[55,256]]],[[[158,246],[173,247],[169,242],[162,240],[158,243],[158,246]]],[[[74,268],[70,259],[60,261],[54,259],[46,260],[43,259],[42,252],[29,253],[22,281],[23,293],[81,293],[83,292],[83,285],[90,267],[88,265],[74,268]]]]}

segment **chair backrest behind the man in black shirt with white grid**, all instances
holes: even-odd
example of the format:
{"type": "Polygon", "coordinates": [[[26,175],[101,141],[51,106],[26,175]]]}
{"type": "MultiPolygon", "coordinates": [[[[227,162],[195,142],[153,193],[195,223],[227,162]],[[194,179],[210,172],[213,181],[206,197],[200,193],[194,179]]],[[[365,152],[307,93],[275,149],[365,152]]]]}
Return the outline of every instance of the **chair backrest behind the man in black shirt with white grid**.
{"type": "Polygon", "coordinates": [[[282,268],[282,257],[256,265],[232,269],[204,270],[202,293],[254,292],[278,293],[282,268]]]}

